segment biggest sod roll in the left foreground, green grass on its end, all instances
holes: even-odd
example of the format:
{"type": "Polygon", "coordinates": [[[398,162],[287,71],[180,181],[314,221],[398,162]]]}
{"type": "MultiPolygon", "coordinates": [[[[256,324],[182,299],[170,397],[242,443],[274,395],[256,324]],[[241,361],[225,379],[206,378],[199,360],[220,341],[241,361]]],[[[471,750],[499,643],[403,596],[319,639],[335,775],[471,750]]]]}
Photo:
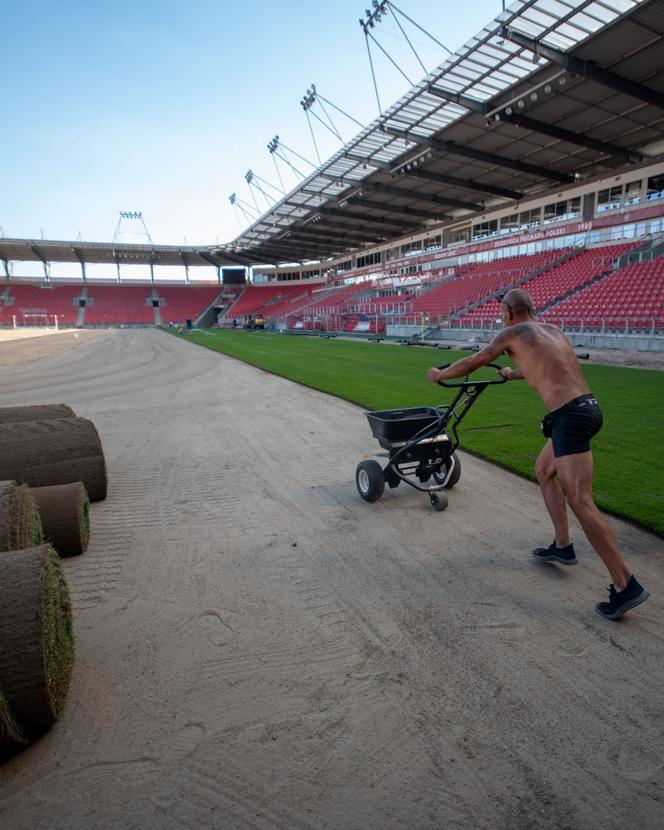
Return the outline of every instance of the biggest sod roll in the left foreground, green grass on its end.
{"type": "Polygon", "coordinates": [[[60,716],[74,665],[69,591],[50,545],[0,556],[0,688],[32,740],[60,716]]]}

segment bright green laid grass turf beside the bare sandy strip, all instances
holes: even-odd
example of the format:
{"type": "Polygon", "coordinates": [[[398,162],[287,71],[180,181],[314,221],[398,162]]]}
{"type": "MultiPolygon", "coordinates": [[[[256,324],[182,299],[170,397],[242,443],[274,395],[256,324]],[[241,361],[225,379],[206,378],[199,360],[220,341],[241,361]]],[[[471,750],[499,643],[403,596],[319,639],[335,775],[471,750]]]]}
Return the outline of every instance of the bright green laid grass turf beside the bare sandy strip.
{"type": "MultiPolygon", "coordinates": [[[[368,410],[448,403],[453,391],[432,385],[426,370],[468,355],[216,329],[194,332],[186,339],[368,410]]],[[[664,376],[614,366],[584,364],[583,370],[604,412],[604,426],[593,439],[595,500],[604,510],[664,536],[664,376]]],[[[477,376],[489,376],[490,370],[482,371],[485,374],[477,376]]],[[[488,387],[460,426],[461,449],[534,479],[544,412],[539,397],[523,381],[488,387]]],[[[367,424],[368,451],[373,443],[367,424]]]]}

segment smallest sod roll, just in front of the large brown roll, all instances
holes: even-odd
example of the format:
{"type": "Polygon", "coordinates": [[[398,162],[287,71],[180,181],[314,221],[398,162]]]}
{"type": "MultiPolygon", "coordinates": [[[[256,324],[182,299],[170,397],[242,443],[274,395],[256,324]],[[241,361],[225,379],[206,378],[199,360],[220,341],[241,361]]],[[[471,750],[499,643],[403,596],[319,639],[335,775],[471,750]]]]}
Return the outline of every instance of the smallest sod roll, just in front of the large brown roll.
{"type": "Polygon", "coordinates": [[[60,556],[79,556],[90,540],[90,500],[80,481],[34,487],[44,539],[60,556]]]}

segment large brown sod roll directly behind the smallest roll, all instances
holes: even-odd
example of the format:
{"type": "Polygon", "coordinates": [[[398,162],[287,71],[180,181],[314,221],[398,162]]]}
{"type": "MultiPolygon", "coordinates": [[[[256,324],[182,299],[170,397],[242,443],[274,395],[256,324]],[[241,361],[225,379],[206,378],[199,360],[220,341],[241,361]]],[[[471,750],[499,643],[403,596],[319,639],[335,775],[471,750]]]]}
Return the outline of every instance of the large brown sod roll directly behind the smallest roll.
{"type": "Polygon", "coordinates": [[[0,481],[30,487],[80,481],[90,501],[106,498],[104,451],[92,421],[54,418],[0,424],[0,481]]]}

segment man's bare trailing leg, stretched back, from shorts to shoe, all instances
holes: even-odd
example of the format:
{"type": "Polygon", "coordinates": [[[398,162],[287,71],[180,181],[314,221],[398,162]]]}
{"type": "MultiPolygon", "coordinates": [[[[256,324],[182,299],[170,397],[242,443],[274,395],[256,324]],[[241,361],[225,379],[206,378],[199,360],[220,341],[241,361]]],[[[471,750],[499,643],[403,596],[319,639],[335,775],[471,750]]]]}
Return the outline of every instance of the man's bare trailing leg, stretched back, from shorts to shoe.
{"type": "Polygon", "coordinates": [[[588,541],[606,565],[613,584],[621,591],[629,581],[630,571],[618,550],[615,534],[593,501],[592,453],[563,455],[556,458],[555,463],[570,507],[588,541]]]}

